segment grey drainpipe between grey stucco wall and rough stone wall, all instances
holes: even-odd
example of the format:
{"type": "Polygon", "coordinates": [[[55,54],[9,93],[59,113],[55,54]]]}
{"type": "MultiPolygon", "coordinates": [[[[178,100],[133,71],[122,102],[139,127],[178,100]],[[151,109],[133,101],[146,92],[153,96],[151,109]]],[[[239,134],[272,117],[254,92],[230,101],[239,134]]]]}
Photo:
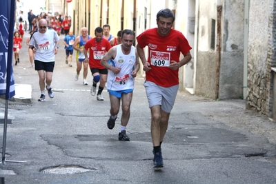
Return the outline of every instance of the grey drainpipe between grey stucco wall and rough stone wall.
{"type": "Polygon", "coordinates": [[[244,84],[243,84],[243,96],[246,99],[247,91],[247,65],[248,65],[248,26],[249,26],[249,0],[244,1],[244,84]]]}

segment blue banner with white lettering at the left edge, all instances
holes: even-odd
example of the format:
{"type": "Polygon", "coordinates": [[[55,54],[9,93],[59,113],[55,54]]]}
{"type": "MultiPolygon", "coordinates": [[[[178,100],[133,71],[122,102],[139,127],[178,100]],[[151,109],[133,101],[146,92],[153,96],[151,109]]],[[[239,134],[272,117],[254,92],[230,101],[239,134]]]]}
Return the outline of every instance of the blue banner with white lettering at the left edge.
{"type": "Polygon", "coordinates": [[[15,0],[1,0],[0,6],[0,94],[15,95],[12,70],[15,0]]]}

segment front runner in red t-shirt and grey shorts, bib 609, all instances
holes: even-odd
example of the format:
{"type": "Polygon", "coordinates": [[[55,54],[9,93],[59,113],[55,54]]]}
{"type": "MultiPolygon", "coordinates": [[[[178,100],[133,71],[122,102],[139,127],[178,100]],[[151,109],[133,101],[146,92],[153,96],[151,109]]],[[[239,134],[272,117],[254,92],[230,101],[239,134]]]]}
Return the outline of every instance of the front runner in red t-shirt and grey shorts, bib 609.
{"type": "Polygon", "coordinates": [[[161,143],[179,87],[178,70],[192,59],[192,49],[184,35],[172,29],[175,14],[166,8],[157,13],[157,28],[137,37],[137,52],[146,71],[144,87],[151,111],[151,136],[154,166],[164,167],[161,143]],[[148,46],[148,59],[144,48],[148,46]],[[180,52],[184,55],[179,59],[180,52]]]}

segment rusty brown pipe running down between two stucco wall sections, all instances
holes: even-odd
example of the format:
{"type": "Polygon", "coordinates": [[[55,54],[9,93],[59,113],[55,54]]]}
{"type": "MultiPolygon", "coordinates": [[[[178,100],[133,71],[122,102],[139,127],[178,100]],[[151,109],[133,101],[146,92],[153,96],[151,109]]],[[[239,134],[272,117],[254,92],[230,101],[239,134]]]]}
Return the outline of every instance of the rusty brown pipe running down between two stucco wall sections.
{"type": "Polygon", "coordinates": [[[216,86],[215,99],[219,98],[219,70],[220,70],[220,50],[221,50],[221,10],[222,6],[217,6],[217,52],[216,52],[216,86]]]}

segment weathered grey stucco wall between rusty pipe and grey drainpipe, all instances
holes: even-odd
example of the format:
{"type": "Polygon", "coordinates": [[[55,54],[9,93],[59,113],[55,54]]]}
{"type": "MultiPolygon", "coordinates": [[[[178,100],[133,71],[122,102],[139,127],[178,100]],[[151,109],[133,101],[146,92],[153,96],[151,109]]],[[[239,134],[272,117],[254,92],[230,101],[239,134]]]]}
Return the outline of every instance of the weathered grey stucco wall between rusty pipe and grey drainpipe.
{"type": "Polygon", "coordinates": [[[244,1],[225,1],[221,16],[219,99],[237,99],[243,93],[244,1]]]}

